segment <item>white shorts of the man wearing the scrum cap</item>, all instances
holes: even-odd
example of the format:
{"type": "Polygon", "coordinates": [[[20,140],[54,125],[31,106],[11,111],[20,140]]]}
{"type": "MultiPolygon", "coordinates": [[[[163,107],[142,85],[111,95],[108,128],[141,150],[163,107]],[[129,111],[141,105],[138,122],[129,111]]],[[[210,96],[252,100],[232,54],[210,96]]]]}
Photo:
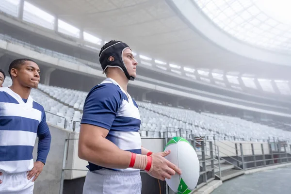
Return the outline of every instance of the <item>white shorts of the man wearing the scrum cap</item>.
{"type": "Polygon", "coordinates": [[[118,172],[102,168],[88,171],[83,194],[141,194],[142,178],[140,171],[118,172]]]}

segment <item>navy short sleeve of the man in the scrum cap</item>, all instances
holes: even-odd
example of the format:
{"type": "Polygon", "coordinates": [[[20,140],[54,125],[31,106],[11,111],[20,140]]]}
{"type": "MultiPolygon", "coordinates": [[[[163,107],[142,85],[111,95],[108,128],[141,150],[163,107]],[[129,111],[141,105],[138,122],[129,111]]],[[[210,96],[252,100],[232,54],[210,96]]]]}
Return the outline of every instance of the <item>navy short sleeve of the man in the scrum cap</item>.
{"type": "Polygon", "coordinates": [[[85,99],[81,124],[111,129],[118,108],[122,102],[118,86],[103,83],[94,87],[85,99]]]}

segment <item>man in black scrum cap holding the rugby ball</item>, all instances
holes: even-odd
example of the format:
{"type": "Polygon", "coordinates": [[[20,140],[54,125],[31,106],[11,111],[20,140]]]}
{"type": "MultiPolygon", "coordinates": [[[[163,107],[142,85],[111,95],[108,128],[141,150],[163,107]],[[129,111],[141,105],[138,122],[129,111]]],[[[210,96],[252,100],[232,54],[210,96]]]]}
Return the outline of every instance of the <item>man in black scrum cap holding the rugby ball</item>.
{"type": "Polygon", "coordinates": [[[88,161],[83,194],[141,194],[140,170],[165,180],[180,169],[164,157],[142,147],[140,114],[127,92],[136,77],[137,62],[121,41],[110,41],[100,50],[106,79],[85,99],[81,119],[79,157],[88,161]]]}

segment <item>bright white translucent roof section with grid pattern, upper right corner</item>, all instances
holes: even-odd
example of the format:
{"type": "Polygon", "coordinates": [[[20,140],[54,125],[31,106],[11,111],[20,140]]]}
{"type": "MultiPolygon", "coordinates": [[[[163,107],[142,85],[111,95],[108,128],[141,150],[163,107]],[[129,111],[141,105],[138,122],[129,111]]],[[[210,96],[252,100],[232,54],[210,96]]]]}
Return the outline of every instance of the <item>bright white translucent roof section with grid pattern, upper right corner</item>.
{"type": "Polygon", "coordinates": [[[291,54],[291,2],[194,0],[224,32],[262,49],[291,54]],[[286,4],[287,2],[287,4],[286,4]]]}

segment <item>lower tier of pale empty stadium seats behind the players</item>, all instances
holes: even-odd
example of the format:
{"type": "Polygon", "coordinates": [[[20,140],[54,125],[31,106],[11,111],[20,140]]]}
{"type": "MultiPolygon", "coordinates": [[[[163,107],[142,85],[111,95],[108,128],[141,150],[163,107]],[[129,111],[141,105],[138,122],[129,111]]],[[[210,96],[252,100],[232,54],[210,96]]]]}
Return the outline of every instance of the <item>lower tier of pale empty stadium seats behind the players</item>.
{"type": "MultiPolygon", "coordinates": [[[[5,86],[12,83],[6,78],[5,86]]],[[[32,97],[47,112],[52,125],[79,132],[84,100],[87,92],[39,84],[32,97]],[[75,126],[74,126],[75,121],[75,126]]],[[[246,121],[241,118],[137,101],[141,115],[142,137],[159,138],[180,135],[183,137],[208,136],[217,140],[263,141],[268,138],[291,140],[291,132],[246,121]]]]}

